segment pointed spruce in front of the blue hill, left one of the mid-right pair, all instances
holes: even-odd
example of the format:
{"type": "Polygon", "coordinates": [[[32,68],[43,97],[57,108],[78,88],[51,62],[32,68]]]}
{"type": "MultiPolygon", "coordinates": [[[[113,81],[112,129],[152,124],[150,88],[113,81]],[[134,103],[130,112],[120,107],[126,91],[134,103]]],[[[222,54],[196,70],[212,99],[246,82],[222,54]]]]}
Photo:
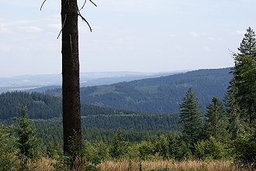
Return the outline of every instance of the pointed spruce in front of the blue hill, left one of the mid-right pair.
{"type": "Polygon", "coordinates": [[[180,123],[182,125],[182,138],[193,152],[194,145],[201,139],[202,114],[199,111],[199,102],[192,88],[189,88],[182,104],[180,104],[180,123]]]}

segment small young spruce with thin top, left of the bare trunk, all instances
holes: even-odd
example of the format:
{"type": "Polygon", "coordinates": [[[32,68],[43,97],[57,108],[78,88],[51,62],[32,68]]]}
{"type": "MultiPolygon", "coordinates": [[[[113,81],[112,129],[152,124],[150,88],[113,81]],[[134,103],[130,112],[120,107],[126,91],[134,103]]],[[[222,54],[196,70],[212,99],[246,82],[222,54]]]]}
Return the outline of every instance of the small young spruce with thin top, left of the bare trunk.
{"type": "Polygon", "coordinates": [[[26,159],[35,159],[39,152],[39,140],[33,129],[32,122],[26,115],[26,106],[22,106],[22,116],[16,118],[16,134],[20,156],[26,159]]]}

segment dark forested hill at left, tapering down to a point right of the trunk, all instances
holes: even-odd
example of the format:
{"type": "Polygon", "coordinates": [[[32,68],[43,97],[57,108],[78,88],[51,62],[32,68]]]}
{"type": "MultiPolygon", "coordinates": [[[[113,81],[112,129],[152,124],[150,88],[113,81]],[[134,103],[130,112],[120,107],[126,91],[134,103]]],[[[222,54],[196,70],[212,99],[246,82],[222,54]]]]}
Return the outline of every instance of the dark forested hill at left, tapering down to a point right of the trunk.
{"type": "MultiPolygon", "coordinates": [[[[9,119],[21,115],[21,107],[26,105],[29,118],[61,118],[61,97],[41,93],[7,92],[0,94],[0,119],[9,119]]],[[[99,115],[153,115],[140,111],[116,110],[92,104],[81,104],[82,116],[99,115]]]]}

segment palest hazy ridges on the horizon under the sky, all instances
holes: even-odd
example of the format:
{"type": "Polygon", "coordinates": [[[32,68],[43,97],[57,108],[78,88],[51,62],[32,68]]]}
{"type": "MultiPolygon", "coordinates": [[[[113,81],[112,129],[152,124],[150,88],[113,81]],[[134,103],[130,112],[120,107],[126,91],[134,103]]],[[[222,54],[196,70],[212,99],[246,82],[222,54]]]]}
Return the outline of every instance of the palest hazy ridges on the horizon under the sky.
{"type": "MultiPolygon", "coordinates": [[[[80,74],[81,87],[115,84],[122,81],[140,80],[149,77],[177,74],[185,71],[167,73],[140,72],[88,72],[80,74]]],[[[0,93],[6,91],[37,91],[61,87],[61,74],[22,75],[16,77],[0,77],[0,93]]]]}

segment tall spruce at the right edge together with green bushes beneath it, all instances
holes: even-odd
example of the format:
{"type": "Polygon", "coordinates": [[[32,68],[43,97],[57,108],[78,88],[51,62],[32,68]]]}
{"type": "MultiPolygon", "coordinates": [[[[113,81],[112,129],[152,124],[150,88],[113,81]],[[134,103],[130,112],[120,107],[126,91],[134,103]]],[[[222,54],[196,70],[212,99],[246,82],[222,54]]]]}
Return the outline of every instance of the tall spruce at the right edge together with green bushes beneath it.
{"type": "Polygon", "coordinates": [[[234,155],[237,162],[255,169],[256,141],[256,38],[249,27],[234,53],[235,67],[230,81],[228,106],[230,130],[234,139],[234,155]]]}

